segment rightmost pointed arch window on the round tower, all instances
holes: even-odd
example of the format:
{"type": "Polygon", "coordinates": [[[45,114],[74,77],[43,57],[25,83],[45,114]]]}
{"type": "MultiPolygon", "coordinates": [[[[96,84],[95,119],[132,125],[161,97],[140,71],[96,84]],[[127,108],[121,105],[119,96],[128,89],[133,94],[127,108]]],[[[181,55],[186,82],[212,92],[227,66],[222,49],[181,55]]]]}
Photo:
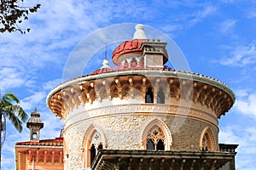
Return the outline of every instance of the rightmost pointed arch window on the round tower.
{"type": "Polygon", "coordinates": [[[199,143],[200,150],[203,151],[217,151],[216,139],[214,137],[214,133],[212,133],[211,127],[206,127],[200,137],[199,143]]]}

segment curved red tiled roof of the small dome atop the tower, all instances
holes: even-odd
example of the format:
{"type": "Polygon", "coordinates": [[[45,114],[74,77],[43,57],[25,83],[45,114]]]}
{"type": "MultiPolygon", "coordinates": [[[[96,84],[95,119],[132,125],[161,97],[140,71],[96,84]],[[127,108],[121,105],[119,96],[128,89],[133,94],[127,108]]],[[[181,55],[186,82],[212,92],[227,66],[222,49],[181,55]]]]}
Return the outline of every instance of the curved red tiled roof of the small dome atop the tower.
{"type": "Polygon", "coordinates": [[[141,44],[143,41],[145,41],[145,39],[133,39],[130,41],[122,42],[117,48],[113,50],[113,63],[118,65],[118,58],[122,54],[127,54],[131,52],[143,53],[143,50],[141,49],[141,44]]]}

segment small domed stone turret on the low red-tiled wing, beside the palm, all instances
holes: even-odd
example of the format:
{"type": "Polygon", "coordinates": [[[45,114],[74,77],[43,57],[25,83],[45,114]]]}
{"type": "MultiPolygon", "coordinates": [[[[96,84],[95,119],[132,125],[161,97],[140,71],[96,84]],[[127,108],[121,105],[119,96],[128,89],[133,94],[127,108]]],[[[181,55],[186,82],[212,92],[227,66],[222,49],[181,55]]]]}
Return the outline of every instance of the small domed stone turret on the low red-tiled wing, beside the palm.
{"type": "Polygon", "coordinates": [[[39,140],[39,131],[44,127],[44,122],[40,119],[37,108],[31,113],[31,117],[26,122],[26,127],[30,129],[30,140],[39,140]]]}

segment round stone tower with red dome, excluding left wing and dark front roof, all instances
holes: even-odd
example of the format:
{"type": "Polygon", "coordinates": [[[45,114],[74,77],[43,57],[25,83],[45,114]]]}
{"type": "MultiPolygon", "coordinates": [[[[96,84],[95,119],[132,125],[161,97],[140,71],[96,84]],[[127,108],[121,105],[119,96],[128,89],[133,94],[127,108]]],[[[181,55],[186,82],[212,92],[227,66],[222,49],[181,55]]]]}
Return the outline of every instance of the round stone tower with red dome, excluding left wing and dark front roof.
{"type": "MultiPolygon", "coordinates": [[[[169,52],[172,53],[172,52],[169,52]]],[[[218,118],[235,95],[223,82],[164,66],[166,42],[143,25],[113,63],[54,88],[49,109],[65,121],[65,169],[90,167],[99,150],[218,151],[218,118]]]]}

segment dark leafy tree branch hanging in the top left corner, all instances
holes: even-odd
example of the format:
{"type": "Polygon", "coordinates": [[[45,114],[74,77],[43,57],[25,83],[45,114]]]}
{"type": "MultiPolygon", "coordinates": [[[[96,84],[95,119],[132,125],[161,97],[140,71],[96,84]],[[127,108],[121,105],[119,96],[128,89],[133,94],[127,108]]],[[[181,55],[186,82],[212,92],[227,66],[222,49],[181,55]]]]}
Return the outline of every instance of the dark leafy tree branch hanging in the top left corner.
{"type": "Polygon", "coordinates": [[[24,0],[1,0],[0,2],[0,32],[20,31],[24,34],[30,28],[22,29],[19,24],[28,20],[28,14],[38,12],[40,4],[32,7],[23,6],[24,0]]]}

